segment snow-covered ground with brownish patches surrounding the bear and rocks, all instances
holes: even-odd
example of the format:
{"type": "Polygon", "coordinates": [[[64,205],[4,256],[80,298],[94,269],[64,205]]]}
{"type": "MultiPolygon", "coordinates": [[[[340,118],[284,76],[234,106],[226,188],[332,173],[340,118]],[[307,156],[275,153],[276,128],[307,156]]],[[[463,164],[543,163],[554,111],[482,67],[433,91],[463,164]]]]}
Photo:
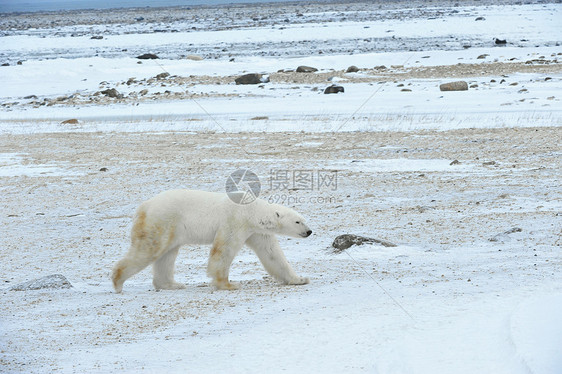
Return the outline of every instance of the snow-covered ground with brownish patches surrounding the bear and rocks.
{"type": "Polygon", "coordinates": [[[2,15],[0,372],[562,373],[562,4],[411,4],[2,15]],[[142,201],[240,168],[310,284],[191,246],[113,292],[142,201]]]}

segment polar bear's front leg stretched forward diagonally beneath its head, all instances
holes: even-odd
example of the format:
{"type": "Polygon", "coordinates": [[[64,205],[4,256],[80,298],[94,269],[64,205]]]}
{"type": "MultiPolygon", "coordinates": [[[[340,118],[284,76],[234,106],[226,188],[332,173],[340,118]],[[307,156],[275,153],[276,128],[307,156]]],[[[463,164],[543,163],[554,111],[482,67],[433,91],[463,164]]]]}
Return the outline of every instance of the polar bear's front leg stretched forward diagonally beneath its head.
{"type": "Polygon", "coordinates": [[[279,246],[279,241],[273,234],[253,234],[246,240],[246,245],[258,255],[265,270],[283,284],[307,284],[310,280],[298,276],[285,257],[279,246]]]}

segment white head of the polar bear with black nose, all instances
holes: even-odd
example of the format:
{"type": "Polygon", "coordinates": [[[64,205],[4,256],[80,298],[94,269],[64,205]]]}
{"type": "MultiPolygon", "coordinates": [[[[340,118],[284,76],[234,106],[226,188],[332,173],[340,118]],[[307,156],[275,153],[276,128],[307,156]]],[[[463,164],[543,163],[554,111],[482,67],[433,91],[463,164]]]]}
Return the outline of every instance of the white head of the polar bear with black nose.
{"type": "Polygon", "coordinates": [[[312,234],[304,218],[293,209],[278,204],[267,205],[268,214],[259,222],[267,232],[295,238],[306,238],[312,234]]]}

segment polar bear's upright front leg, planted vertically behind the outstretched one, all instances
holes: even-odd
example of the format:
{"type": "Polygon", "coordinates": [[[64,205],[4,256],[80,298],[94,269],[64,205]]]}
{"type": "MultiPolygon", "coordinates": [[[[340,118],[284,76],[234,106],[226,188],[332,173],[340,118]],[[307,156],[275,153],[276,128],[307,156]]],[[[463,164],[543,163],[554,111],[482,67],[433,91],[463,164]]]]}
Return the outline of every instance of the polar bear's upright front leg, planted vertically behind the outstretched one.
{"type": "Polygon", "coordinates": [[[244,241],[235,234],[218,232],[209,255],[207,275],[213,279],[213,285],[219,290],[237,290],[240,285],[228,280],[230,265],[242,248],[244,241]]]}

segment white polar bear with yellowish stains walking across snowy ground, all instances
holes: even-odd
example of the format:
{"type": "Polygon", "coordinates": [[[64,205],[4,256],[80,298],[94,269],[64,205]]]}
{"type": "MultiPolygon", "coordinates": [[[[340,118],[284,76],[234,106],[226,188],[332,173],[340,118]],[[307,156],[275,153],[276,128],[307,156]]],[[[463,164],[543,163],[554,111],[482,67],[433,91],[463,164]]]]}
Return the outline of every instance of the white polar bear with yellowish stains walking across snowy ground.
{"type": "Polygon", "coordinates": [[[185,244],[212,244],[207,275],[220,290],[239,288],[228,275],[232,260],[244,244],[254,250],[277,281],[307,284],[309,279],[293,271],[275,237],[310,236],[312,231],[302,216],[261,199],[249,204],[233,200],[236,194],[171,190],[142,203],[133,221],[129,252],[113,268],[115,291],[120,293],[128,278],[150,264],[157,290],[185,288],[174,280],[174,263],[185,244]]]}

